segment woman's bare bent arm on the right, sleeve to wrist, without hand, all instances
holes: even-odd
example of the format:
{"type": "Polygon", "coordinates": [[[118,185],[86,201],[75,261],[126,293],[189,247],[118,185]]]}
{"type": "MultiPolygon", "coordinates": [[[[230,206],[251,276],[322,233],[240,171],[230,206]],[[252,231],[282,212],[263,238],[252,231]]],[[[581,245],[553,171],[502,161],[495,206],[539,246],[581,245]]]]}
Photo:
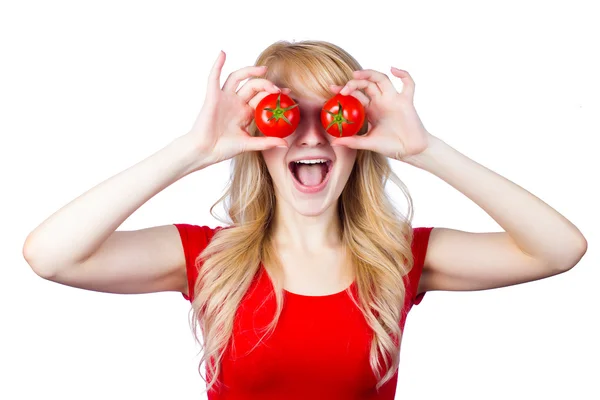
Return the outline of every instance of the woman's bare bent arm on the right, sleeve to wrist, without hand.
{"type": "Polygon", "coordinates": [[[516,183],[427,136],[427,148],[402,161],[463,193],[505,232],[434,228],[419,292],[515,285],[557,275],[579,262],[587,241],[568,219],[516,183]]]}

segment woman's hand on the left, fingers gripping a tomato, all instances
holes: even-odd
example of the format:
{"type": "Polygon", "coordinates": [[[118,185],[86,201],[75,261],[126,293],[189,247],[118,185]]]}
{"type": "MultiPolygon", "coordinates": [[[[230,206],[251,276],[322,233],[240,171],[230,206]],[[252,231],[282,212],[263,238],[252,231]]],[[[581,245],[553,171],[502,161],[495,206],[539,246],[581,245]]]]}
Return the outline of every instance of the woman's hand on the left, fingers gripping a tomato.
{"type": "Polygon", "coordinates": [[[221,88],[220,77],[225,53],[221,51],[208,79],[206,98],[194,126],[186,134],[203,157],[204,165],[212,165],[232,158],[244,151],[267,150],[276,146],[287,147],[282,138],[251,136],[247,127],[254,119],[258,103],[271,93],[289,93],[263,78],[249,79],[238,90],[241,81],[261,76],[265,67],[245,67],[232,72],[221,88]]]}

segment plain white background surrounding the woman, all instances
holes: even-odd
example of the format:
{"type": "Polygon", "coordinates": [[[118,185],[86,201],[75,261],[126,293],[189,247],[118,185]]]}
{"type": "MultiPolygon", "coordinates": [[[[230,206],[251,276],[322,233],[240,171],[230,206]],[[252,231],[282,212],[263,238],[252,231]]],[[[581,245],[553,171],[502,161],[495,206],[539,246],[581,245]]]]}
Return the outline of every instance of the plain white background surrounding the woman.
{"type": "MultiPolygon", "coordinates": [[[[280,39],[328,40],[364,68],[408,70],[431,133],[546,201],[589,243],[549,279],[428,293],[406,324],[397,398],[600,398],[593,3],[3,2],[0,398],[205,398],[181,294],[54,284],[22,245],[51,213],[186,133],[220,49],[223,82],[280,39]]],[[[415,226],[501,230],[436,176],[392,163],[415,226]]],[[[217,225],[209,207],[228,174],[223,162],[176,182],[120,229],[217,225]]]]}

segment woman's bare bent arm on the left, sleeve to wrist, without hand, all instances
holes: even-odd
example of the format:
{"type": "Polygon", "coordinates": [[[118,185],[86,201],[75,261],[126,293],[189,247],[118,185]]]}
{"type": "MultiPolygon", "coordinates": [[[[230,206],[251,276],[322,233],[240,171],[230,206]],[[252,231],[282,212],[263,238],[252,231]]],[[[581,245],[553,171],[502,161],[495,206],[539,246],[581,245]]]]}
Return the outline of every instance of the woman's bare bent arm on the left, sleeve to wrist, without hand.
{"type": "Polygon", "coordinates": [[[52,214],[25,240],[39,276],[82,289],[147,293],[186,288],[185,257],[174,225],[116,229],[160,191],[208,164],[181,136],[52,214]]]}

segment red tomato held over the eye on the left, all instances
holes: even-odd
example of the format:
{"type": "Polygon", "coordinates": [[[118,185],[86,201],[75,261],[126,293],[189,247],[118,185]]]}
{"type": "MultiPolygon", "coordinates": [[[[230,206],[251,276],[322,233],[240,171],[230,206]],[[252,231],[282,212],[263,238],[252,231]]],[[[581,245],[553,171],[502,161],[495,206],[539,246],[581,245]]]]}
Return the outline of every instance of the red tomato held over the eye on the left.
{"type": "Polygon", "coordinates": [[[263,135],[284,138],[298,127],[300,108],[288,95],[271,93],[256,106],[254,121],[263,135]]]}

